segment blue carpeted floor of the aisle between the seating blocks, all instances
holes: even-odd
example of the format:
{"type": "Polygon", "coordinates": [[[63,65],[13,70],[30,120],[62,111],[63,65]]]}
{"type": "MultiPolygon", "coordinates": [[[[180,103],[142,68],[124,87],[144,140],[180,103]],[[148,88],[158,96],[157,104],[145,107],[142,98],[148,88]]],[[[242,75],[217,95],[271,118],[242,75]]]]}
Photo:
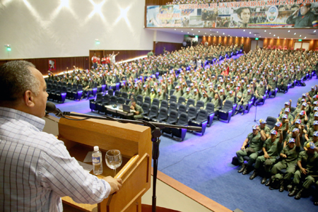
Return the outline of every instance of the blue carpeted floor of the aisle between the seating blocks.
{"type": "MultiPolygon", "coordinates": [[[[312,78],[306,84],[267,99],[264,105],[257,107],[256,119],[277,117],[288,100],[292,100],[292,106],[295,106],[302,93],[307,93],[318,81],[312,78]]],[[[61,111],[97,114],[90,112],[88,100],[66,100],[57,107],[61,111]]],[[[247,134],[252,132],[252,125],[256,124],[255,112],[256,107],[252,107],[248,114],[232,117],[229,124],[214,121],[204,136],[188,132],[182,142],[164,134],[160,137],[159,170],[233,211],[235,208],[245,212],[317,211],[312,196],[295,200],[286,191],[271,191],[260,183],[261,177],[249,180],[252,173],[239,174],[238,167],[231,164],[235,152],[240,149],[247,134]]]]}

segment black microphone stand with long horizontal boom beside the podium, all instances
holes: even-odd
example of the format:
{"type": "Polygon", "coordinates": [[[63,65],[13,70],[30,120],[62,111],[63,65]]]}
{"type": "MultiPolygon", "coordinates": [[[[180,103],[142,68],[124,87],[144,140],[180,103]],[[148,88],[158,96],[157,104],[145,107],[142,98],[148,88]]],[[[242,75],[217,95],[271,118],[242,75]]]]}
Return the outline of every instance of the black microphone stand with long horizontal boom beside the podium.
{"type": "MultiPolygon", "coordinates": [[[[157,173],[158,173],[158,158],[159,158],[159,144],[161,136],[161,129],[165,127],[170,128],[177,128],[177,129],[189,129],[192,131],[202,131],[202,128],[199,126],[180,126],[180,125],[172,125],[172,124],[165,124],[165,123],[158,123],[158,122],[146,122],[143,120],[129,120],[129,119],[116,119],[108,116],[92,116],[88,114],[77,114],[73,112],[61,112],[58,110],[57,114],[58,117],[63,117],[68,119],[65,116],[71,117],[83,117],[85,119],[102,119],[107,121],[117,121],[121,123],[130,123],[130,124],[142,124],[144,126],[149,126],[151,128],[151,141],[153,142],[153,199],[152,199],[152,212],[156,211],[157,205],[157,196],[156,196],[156,183],[157,183],[157,173]]],[[[74,119],[77,120],[77,119],[74,119]]],[[[78,119],[81,120],[81,119],[78,119]]]]}

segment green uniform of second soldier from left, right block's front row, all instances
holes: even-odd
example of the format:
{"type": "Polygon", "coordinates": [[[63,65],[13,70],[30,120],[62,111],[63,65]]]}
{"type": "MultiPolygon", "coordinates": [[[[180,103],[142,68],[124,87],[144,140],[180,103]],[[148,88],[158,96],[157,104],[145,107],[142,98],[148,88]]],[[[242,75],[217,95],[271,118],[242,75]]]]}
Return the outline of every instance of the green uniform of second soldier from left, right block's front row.
{"type": "Polygon", "coordinates": [[[282,145],[281,145],[281,142],[279,142],[279,139],[280,139],[279,137],[276,137],[275,141],[272,141],[272,139],[269,138],[264,142],[263,147],[265,148],[270,158],[266,159],[264,155],[257,157],[257,160],[254,165],[255,169],[259,169],[260,165],[262,163],[265,163],[265,171],[269,172],[271,165],[275,163],[276,157],[281,152],[282,145]]]}

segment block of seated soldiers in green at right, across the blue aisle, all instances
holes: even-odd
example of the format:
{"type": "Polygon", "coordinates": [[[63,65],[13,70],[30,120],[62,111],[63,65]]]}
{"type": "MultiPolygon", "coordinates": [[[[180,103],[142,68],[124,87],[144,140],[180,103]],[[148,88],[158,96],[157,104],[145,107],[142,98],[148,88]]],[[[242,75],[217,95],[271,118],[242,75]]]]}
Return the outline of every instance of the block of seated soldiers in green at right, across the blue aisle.
{"type": "Polygon", "coordinates": [[[297,102],[285,102],[277,119],[260,119],[259,126],[252,126],[252,133],[237,151],[238,163],[242,165],[238,172],[247,175],[254,169],[249,179],[262,175],[261,184],[279,192],[288,189],[288,196],[295,199],[313,194],[315,206],[318,206],[317,91],[318,86],[312,86],[297,102]],[[248,160],[247,164],[244,160],[248,160]]]}

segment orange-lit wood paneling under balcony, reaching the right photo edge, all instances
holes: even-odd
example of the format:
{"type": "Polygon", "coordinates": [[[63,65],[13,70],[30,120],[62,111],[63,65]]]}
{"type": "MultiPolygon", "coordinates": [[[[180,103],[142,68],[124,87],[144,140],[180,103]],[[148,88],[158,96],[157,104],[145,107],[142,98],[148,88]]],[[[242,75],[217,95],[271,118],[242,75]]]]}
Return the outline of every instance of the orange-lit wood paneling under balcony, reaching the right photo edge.
{"type": "MultiPolygon", "coordinates": [[[[267,47],[271,45],[273,47],[274,45],[278,48],[278,46],[287,47],[288,49],[294,47],[295,42],[299,42],[298,40],[293,40],[293,39],[274,39],[274,38],[263,38],[259,40],[264,40],[263,42],[263,47],[267,47]]],[[[302,40],[302,42],[309,42],[310,46],[308,50],[314,51],[318,47],[318,40],[302,40]]]]}

